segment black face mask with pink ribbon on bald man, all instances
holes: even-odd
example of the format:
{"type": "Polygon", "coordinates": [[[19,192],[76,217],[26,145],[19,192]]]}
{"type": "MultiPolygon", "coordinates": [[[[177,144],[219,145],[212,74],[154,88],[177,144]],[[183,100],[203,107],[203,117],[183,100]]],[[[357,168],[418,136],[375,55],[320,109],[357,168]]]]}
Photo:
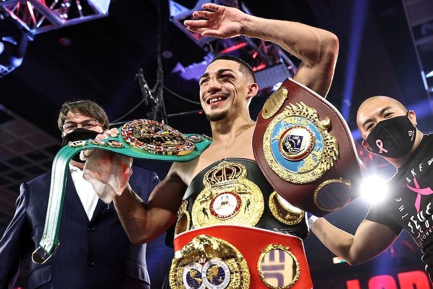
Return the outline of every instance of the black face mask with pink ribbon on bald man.
{"type": "Polygon", "coordinates": [[[380,156],[400,158],[407,155],[413,147],[416,128],[405,116],[380,121],[365,140],[370,152],[380,156]]]}

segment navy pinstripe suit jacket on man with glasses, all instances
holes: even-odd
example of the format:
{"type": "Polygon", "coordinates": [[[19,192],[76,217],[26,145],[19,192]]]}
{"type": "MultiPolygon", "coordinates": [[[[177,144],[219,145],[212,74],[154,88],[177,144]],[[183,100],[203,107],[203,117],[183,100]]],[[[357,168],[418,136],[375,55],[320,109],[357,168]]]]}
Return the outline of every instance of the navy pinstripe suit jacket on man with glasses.
{"type": "MultiPolygon", "coordinates": [[[[147,201],[159,183],[154,172],[133,167],[131,187],[147,201]]],[[[12,288],[42,238],[51,173],[21,184],[16,212],[0,241],[0,289],[12,288]]],[[[89,221],[68,170],[57,252],[44,264],[30,261],[27,289],[150,288],[146,244],[129,241],[113,203],[99,201],[89,221]]]]}

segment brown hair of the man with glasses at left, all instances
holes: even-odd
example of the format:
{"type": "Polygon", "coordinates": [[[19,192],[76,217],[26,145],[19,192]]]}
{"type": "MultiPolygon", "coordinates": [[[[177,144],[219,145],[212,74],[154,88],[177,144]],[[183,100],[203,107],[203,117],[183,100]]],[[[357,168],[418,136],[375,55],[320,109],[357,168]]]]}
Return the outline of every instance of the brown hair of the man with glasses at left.
{"type": "Polygon", "coordinates": [[[61,131],[63,131],[63,125],[65,124],[68,112],[74,114],[80,113],[94,118],[99,122],[99,125],[104,131],[110,128],[110,121],[100,105],[90,100],[80,100],[76,102],[66,102],[62,105],[59,118],[57,119],[57,126],[61,131]]]}

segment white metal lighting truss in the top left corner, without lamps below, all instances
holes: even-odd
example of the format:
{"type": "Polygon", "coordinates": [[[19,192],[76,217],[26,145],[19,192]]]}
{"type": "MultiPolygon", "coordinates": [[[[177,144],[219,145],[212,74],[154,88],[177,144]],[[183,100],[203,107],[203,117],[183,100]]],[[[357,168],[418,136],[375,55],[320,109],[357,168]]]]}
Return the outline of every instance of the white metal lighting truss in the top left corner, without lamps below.
{"type": "Polygon", "coordinates": [[[33,35],[106,17],[111,0],[5,0],[2,15],[12,17],[33,35]]]}

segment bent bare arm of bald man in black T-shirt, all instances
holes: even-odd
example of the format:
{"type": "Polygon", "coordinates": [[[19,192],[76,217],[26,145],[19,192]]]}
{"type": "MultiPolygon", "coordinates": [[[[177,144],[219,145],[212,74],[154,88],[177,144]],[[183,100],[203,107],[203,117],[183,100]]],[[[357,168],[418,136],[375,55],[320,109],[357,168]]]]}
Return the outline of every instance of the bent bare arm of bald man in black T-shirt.
{"type": "Polygon", "coordinates": [[[351,235],[324,218],[319,218],[311,227],[317,238],[334,254],[355,266],[373,259],[385,251],[398,237],[385,225],[364,220],[351,235]]]}

